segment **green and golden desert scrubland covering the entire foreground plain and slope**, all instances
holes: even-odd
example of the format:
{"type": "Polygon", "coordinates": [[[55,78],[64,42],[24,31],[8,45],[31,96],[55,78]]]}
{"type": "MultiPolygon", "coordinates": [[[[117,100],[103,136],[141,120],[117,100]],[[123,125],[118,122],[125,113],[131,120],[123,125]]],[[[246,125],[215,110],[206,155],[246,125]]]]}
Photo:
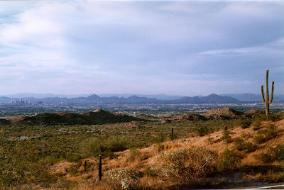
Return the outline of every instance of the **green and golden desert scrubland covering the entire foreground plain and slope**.
{"type": "Polygon", "coordinates": [[[2,125],[0,186],[229,189],[283,182],[283,115],[273,114],[269,121],[261,114],[228,117],[184,114],[101,125],[2,125]]]}

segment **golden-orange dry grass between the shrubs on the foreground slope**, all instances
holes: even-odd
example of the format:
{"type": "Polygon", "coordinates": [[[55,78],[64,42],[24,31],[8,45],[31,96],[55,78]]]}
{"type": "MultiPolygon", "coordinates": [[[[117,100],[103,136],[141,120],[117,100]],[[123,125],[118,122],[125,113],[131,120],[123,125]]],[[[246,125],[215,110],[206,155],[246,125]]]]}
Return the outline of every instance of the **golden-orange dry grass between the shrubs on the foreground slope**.
{"type": "MultiPolygon", "coordinates": [[[[261,164],[259,160],[256,160],[256,155],[261,152],[265,152],[269,147],[275,147],[278,144],[284,144],[284,120],[277,122],[263,122],[261,128],[265,128],[267,125],[273,123],[277,127],[277,136],[266,143],[258,146],[258,149],[254,152],[241,152],[239,155],[241,159],[241,166],[258,166],[261,164]]],[[[232,140],[236,138],[242,138],[247,142],[253,143],[253,137],[257,135],[257,131],[253,130],[252,126],[249,128],[232,128],[229,130],[232,140]]],[[[156,164],[160,155],[168,152],[175,152],[181,149],[189,149],[190,147],[207,147],[220,154],[226,149],[234,149],[234,143],[226,143],[222,138],[222,131],[212,133],[203,137],[199,137],[194,133],[190,133],[188,138],[181,138],[172,141],[167,141],[160,144],[154,144],[150,147],[144,147],[136,150],[125,150],[123,152],[116,152],[114,159],[105,158],[102,160],[103,170],[103,182],[98,183],[98,171],[97,171],[97,158],[90,157],[87,162],[92,163],[87,172],[83,171],[83,166],[78,170],[80,174],[70,175],[66,174],[65,179],[70,181],[77,181],[79,184],[74,189],[116,189],[119,188],[119,184],[110,184],[108,172],[111,169],[138,169],[144,172],[144,176],[140,180],[140,189],[173,189],[173,186],[178,186],[177,182],[167,179],[165,177],[151,177],[147,175],[149,167],[156,164]],[[163,148],[161,148],[163,147],[163,148]],[[87,182],[86,182],[87,181],[87,182]],[[95,181],[95,184],[89,184],[95,181]]],[[[84,160],[82,160],[82,165],[84,160]]],[[[65,173],[65,168],[69,167],[68,162],[60,162],[53,165],[50,168],[50,172],[53,173],[65,173]]],[[[275,162],[275,165],[283,164],[282,162],[275,162]]],[[[268,171],[266,174],[255,173],[246,179],[258,179],[259,181],[274,181],[278,182],[283,180],[283,172],[268,171]],[[282,177],[282,178],[281,178],[282,177]]],[[[177,188],[178,189],[178,188],[177,188]]]]}

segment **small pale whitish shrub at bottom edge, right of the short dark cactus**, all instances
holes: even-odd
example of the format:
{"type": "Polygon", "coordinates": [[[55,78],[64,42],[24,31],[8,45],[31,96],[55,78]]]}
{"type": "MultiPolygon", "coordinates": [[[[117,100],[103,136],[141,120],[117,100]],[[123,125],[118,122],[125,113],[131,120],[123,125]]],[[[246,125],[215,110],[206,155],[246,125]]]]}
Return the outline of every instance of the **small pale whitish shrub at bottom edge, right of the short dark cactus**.
{"type": "Polygon", "coordinates": [[[123,189],[137,189],[143,173],[133,169],[111,169],[109,177],[120,182],[123,189]]]}

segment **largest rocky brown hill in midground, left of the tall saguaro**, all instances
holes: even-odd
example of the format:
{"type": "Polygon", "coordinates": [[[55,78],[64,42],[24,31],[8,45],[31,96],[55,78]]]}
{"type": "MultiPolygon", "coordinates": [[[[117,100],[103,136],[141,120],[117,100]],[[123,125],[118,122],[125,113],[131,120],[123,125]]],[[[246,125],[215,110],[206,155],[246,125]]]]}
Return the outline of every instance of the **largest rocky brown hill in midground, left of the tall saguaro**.
{"type": "Polygon", "coordinates": [[[239,118],[239,116],[243,114],[244,113],[231,108],[213,108],[206,113],[203,113],[203,116],[206,116],[208,118],[231,119],[239,118]]]}

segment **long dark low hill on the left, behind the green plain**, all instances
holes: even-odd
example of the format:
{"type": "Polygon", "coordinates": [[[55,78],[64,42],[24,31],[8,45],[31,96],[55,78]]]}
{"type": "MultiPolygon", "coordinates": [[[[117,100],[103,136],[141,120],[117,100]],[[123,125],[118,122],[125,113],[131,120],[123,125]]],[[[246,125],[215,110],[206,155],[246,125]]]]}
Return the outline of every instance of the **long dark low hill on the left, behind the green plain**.
{"type": "Polygon", "coordinates": [[[110,113],[104,110],[96,110],[87,113],[39,113],[36,116],[25,117],[18,124],[29,125],[94,125],[103,123],[124,123],[129,121],[142,121],[140,118],[124,114],[110,113]]]}

